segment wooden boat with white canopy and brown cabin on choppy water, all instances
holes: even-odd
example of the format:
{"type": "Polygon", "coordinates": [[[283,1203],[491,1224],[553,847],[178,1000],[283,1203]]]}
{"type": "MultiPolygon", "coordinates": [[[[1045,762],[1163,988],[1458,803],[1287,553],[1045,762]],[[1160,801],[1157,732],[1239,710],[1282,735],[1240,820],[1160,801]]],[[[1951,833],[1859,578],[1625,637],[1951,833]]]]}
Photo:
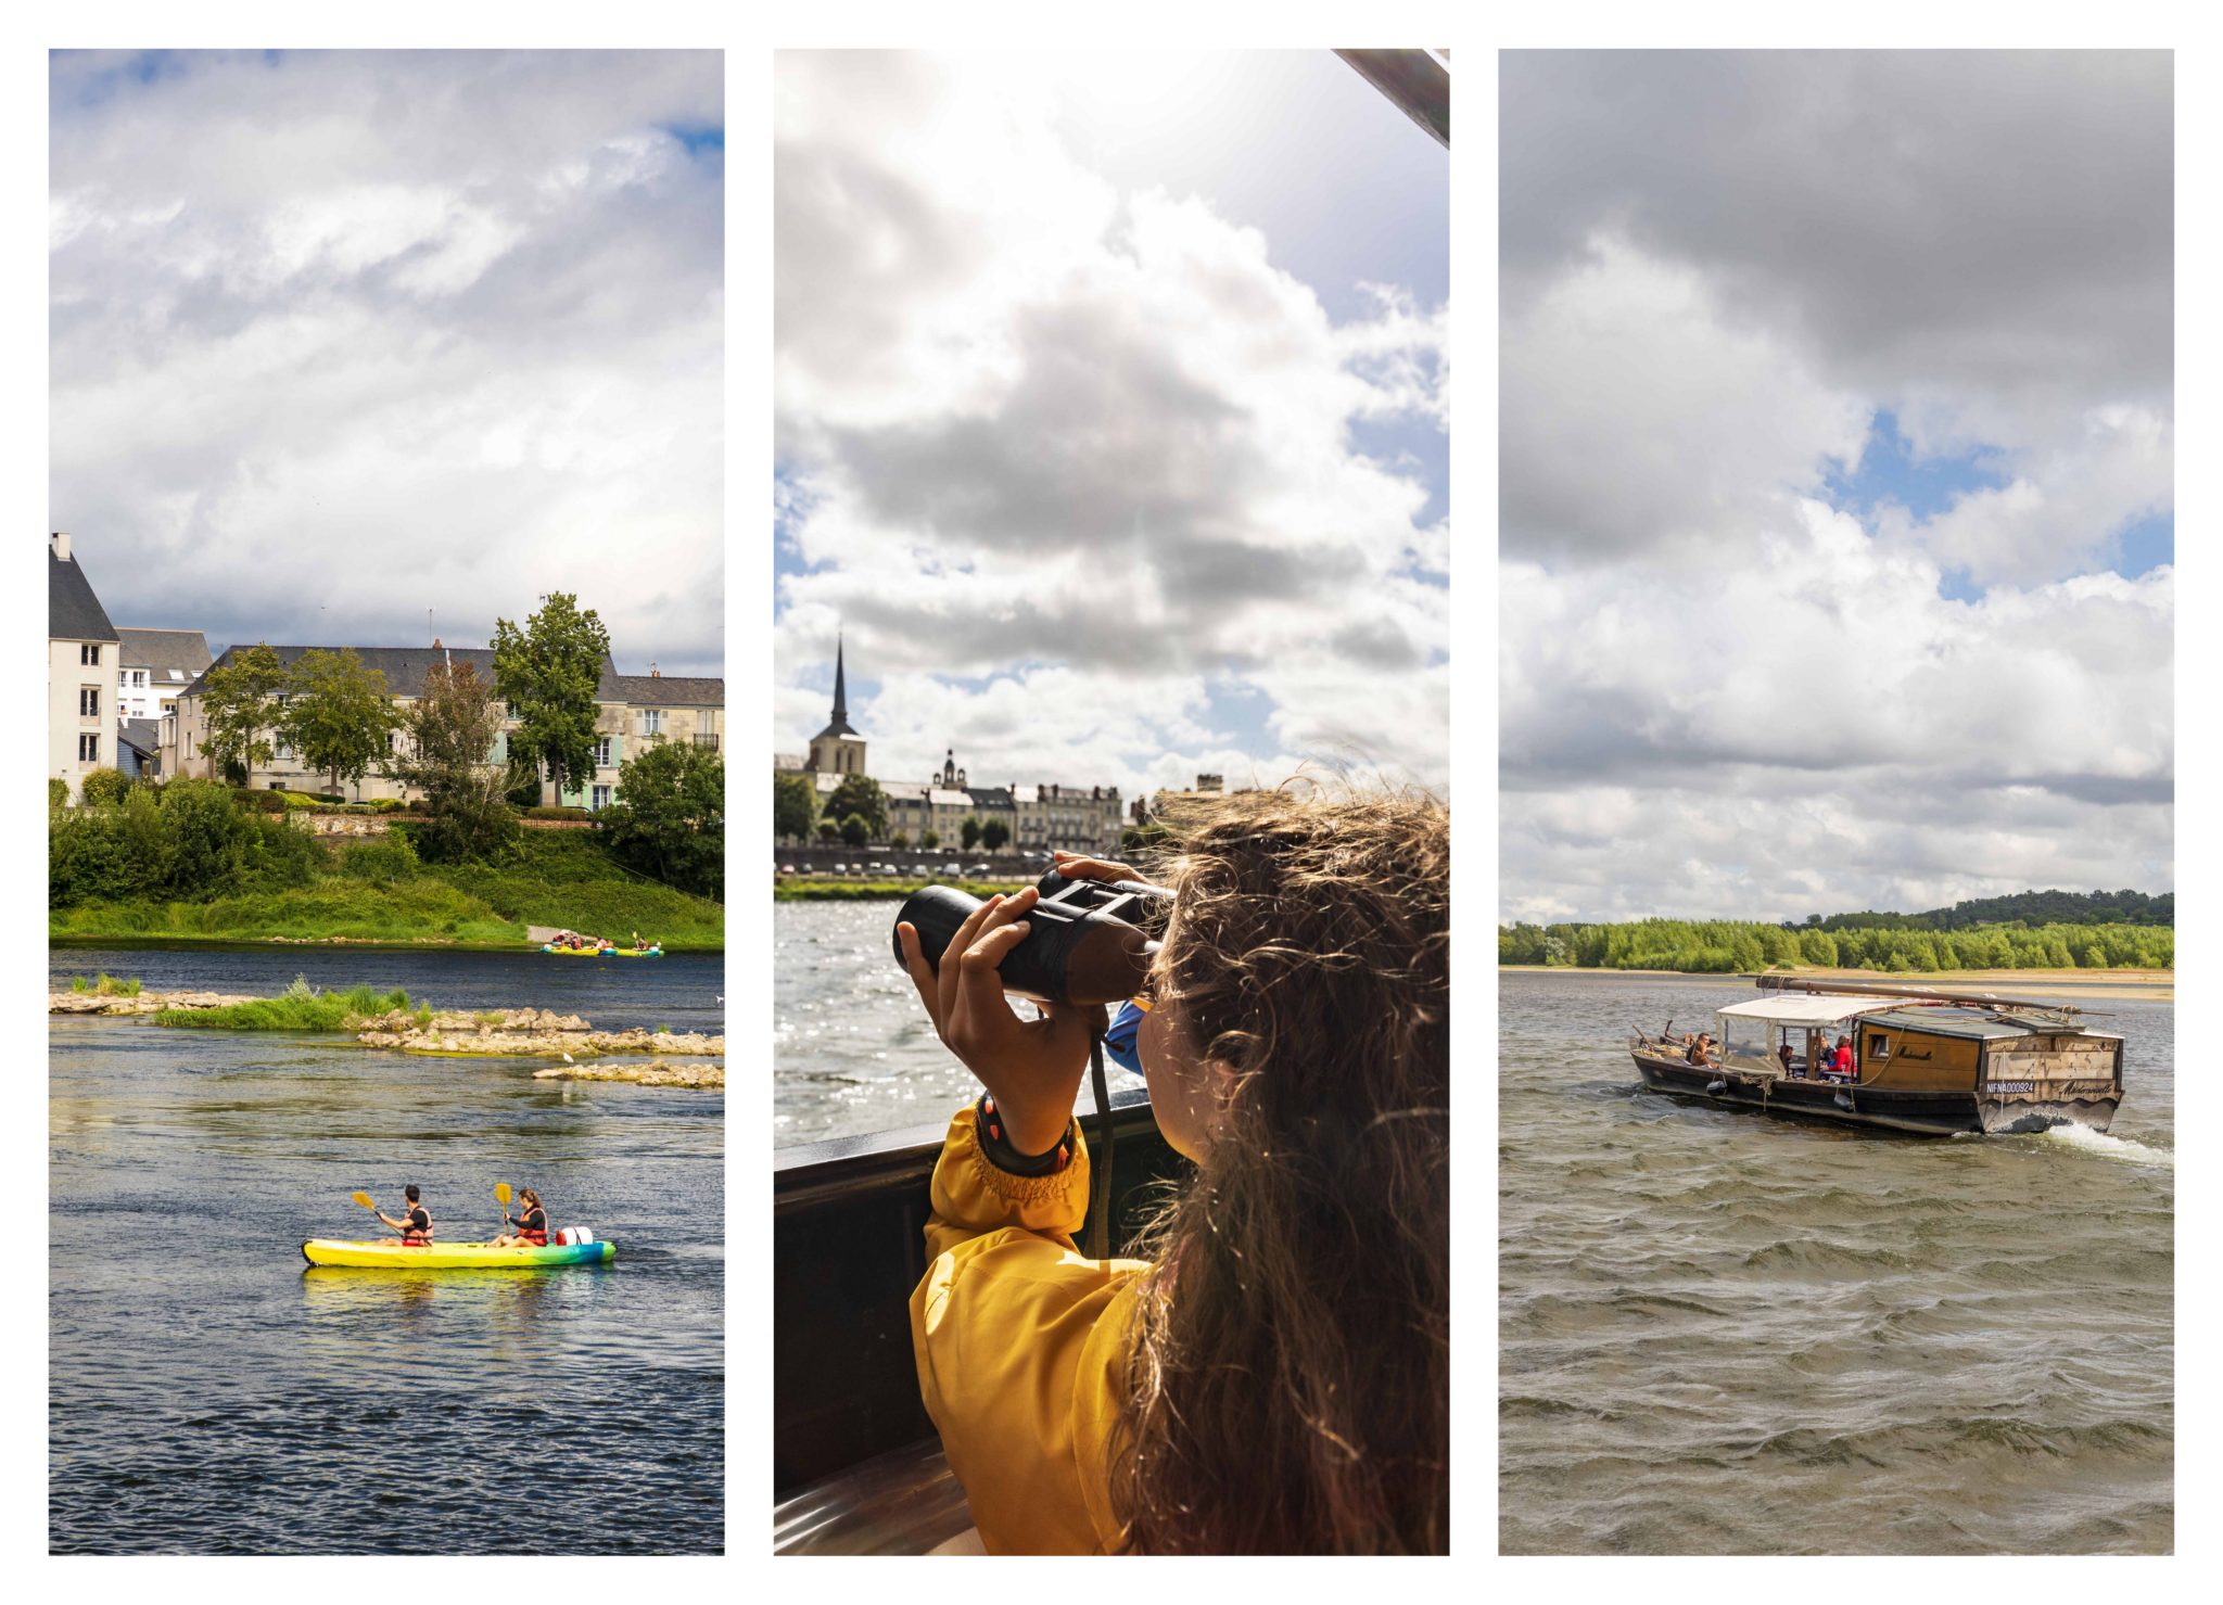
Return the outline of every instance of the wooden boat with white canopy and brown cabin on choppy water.
{"type": "Polygon", "coordinates": [[[2123,1103],[2123,1038],[2085,1027],[2083,1009],[1936,987],[1754,976],[1765,996],[1716,1009],[1703,1063],[1667,1023],[1636,1031],[1647,1087],[1687,1098],[1845,1125],[1950,1136],[2105,1132],[2123,1103]],[[1852,1074],[1827,1054],[1852,1038],[1852,1074]]]}

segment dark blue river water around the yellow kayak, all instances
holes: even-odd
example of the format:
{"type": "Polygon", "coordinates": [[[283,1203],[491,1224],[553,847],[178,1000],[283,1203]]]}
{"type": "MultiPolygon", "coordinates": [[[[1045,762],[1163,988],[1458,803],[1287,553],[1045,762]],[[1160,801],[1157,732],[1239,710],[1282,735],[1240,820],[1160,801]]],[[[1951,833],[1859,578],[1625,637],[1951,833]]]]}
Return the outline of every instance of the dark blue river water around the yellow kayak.
{"type": "MultiPolygon", "coordinates": [[[[676,1031],[718,1029],[725,989],[716,956],[62,949],[51,965],[102,967],[229,991],[367,980],[676,1031]]],[[[725,1098],[531,1071],[53,1018],[51,1549],[720,1552],[725,1098]],[[393,1214],[409,1180],[442,1238],[489,1236],[509,1180],[618,1258],[302,1263],[302,1238],[382,1234],[351,1189],[393,1214]]]]}

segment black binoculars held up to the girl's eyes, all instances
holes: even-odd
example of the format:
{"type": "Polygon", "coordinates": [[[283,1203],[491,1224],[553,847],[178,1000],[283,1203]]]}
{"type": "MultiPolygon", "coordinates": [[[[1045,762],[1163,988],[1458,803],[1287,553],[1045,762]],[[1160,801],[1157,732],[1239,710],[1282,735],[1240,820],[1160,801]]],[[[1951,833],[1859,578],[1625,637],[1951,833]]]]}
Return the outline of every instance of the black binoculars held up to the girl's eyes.
{"type": "MultiPolygon", "coordinates": [[[[1036,883],[1027,934],[1003,956],[1003,989],[1036,1003],[1125,1003],[1143,987],[1174,894],[1147,880],[1067,880],[1051,869],[1036,883]]],[[[956,887],[914,891],[896,923],[918,931],[918,949],[938,976],[943,954],[980,898],[956,887]]],[[[903,938],[889,938],[903,963],[903,938]]]]}

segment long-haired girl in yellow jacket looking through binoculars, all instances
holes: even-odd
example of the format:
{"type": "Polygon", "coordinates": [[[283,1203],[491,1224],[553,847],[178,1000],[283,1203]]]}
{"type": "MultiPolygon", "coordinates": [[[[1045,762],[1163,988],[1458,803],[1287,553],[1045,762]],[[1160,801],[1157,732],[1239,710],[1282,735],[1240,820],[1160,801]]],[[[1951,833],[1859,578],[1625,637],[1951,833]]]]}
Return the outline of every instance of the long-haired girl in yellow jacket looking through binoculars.
{"type": "Polygon", "coordinates": [[[1447,869],[1427,798],[1245,791],[1183,823],[1134,1047],[1196,1169],[1138,1258],[1074,1245],[1100,1009],[1023,1020],[996,974],[1036,891],[983,905],[940,974],[898,925],[987,1087],[949,1123],[911,1294],[985,1549],[1449,1549],[1447,869]]]}

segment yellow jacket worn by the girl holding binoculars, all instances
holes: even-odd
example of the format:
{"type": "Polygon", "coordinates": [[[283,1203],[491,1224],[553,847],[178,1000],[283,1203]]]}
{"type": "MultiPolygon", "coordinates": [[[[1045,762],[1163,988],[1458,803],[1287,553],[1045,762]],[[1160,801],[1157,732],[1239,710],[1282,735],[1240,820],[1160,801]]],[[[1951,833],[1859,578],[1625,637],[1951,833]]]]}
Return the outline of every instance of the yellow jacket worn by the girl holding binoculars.
{"type": "Polygon", "coordinates": [[[1105,1445],[1149,1267],[1074,1249],[1087,1198],[1087,1145],[1063,1172],[1014,1176],[980,1152],[969,1107],[949,1120],[911,1349],[989,1554],[1120,1547],[1105,1445]]]}

